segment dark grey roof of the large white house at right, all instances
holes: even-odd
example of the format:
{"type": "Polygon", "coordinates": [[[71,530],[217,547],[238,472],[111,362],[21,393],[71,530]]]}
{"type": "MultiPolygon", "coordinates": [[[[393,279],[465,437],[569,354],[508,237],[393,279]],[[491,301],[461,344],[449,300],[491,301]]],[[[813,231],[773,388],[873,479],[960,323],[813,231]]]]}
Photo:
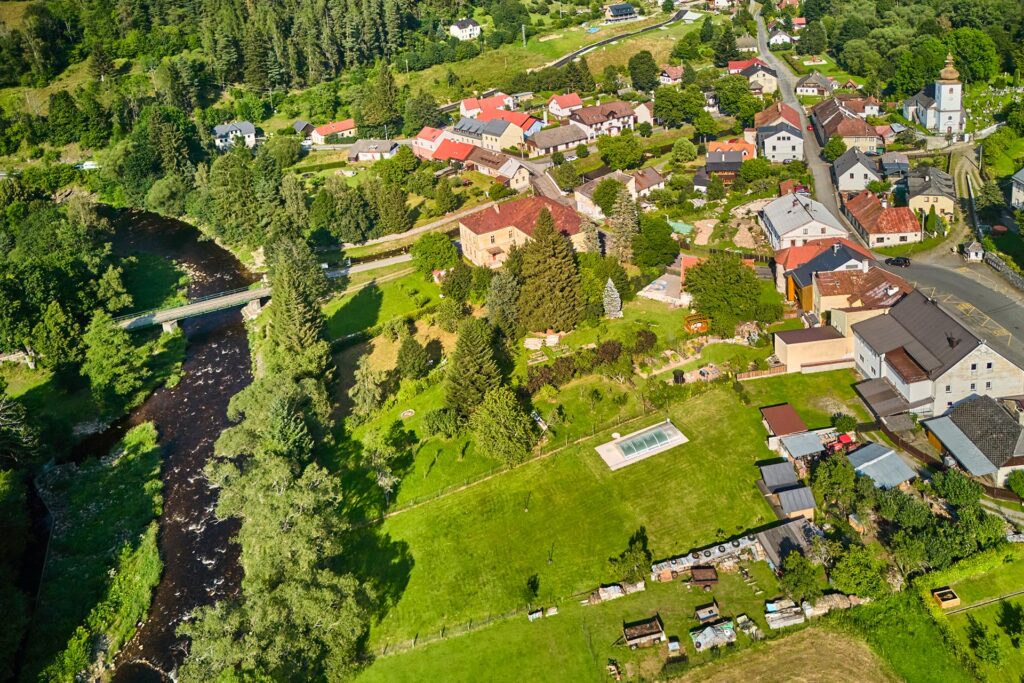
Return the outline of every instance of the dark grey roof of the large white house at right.
{"type": "Polygon", "coordinates": [[[856,323],[853,331],[876,353],[903,350],[935,380],[981,344],[938,303],[913,290],[890,309],[856,323]]]}

